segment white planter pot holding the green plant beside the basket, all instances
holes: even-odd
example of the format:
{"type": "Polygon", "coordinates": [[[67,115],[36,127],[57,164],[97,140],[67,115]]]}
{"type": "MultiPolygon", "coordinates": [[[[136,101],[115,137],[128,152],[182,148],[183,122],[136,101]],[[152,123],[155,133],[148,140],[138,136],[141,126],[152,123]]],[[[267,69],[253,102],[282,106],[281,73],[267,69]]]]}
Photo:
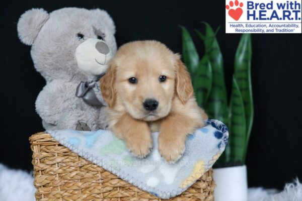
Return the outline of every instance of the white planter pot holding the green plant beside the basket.
{"type": "Polygon", "coordinates": [[[248,200],[247,166],[216,168],[213,178],[215,201],[248,200]]]}

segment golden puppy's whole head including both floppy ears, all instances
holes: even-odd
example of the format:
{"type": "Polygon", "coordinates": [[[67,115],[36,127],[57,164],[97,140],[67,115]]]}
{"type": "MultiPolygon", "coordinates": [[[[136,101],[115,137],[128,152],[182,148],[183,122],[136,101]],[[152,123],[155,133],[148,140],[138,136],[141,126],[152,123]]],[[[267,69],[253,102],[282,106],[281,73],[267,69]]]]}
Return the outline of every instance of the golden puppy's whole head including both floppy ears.
{"type": "Polygon", "coordinates": [[[156,41],[123,45],[101,79],[101,90],[109,107],[121,104],[133,118],[144,121],[167,116],[175,95],[183,103],[193,95],[189,74],[179,55],[156,41]],[[178,87],[179,84],[183,86],[178,87]]]}

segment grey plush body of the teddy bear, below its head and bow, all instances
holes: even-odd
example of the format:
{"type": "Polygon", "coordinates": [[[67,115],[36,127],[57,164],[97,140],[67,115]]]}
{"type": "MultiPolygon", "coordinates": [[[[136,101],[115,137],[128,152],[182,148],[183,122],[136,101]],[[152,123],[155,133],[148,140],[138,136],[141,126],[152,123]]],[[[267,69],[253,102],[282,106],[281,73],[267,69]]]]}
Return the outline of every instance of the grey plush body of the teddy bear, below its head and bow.
{"type": "Polygon", "coordinates": [[[75,96],[77,84],[53,80],[39,93],[36,100],[37,113],[46,130],[77,129],[86,125],[97,130],[97,114],[81,98],[75,96]]]}

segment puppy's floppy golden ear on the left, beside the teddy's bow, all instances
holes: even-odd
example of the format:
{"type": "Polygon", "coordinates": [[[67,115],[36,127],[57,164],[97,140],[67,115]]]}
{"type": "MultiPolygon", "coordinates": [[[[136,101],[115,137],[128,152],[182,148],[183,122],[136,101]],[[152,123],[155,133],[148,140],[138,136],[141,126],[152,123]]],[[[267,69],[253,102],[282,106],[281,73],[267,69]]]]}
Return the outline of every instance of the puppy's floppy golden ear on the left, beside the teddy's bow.
{"type": "Polygon", "coordinates": [[[109,108],[114,106],[116,100],[116,91],[114,87],[116,68],[116,64],[110,62],[106,74],[100,79],[102,95],[104,100],[108,103],[109,108]]]}

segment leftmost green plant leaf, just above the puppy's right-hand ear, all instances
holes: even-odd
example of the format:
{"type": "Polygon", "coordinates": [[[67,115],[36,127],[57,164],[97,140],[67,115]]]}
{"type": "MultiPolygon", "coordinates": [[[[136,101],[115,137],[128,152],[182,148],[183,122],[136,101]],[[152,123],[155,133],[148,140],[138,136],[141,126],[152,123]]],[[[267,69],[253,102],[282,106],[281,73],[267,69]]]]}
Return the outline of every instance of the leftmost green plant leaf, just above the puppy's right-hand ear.
{"type": "Polygon", "coordinates": [[[191,77],[194,77],[193,75],[198,68],[199,55],[188,30],[183,26],[179,27],[182,30],[183,60],[191,74],[191,77]]]}

